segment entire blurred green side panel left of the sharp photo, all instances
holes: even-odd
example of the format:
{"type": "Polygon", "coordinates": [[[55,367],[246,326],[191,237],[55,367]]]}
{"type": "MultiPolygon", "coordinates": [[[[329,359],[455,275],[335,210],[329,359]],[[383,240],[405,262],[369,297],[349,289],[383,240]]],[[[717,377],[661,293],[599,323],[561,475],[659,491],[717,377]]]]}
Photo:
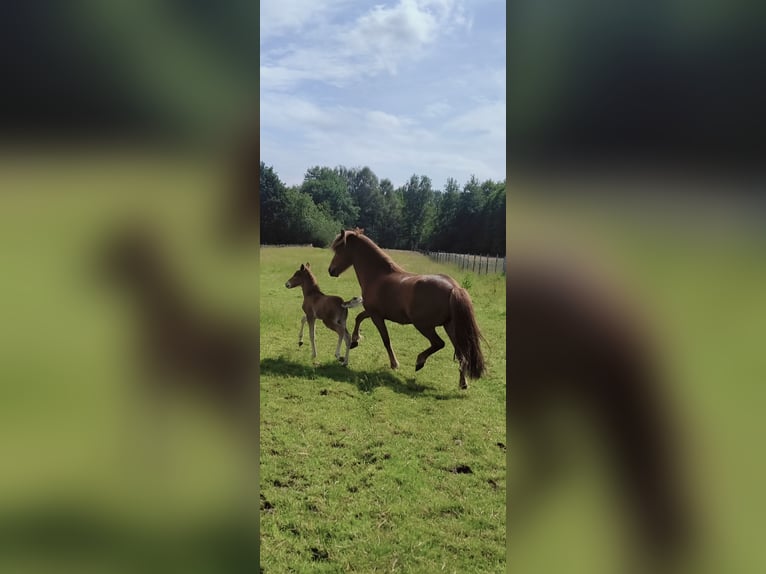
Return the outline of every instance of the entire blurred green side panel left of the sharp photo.
{"type": "Polygon", "coordinates": [[[257,403],[233,423],[211,381],[258,353],[257,234],[221,233],[256,193],[256,10],[0,7],[0,570],[255,569],[257,403]],[[154,292],[107,272],[126,229],[154,292]]]}

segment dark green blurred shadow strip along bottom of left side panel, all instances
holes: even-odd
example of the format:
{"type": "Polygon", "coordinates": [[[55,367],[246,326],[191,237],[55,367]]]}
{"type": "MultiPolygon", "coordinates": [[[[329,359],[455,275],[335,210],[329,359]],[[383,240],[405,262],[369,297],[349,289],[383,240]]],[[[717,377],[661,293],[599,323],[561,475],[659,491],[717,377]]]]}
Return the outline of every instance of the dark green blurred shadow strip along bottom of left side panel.
{"type": "MultiPolygon", "coordinates": [[[[157,528],[84,504],[46,502],[4,512],[3,560],[49,559],[101,564],[102,572],[254,572],[254,520],[232,514],[157,528]]],[[[60,564],[59,564],[60,565],[60,564]]],[[[52,570],[56,571],[56,570],[52,570]]]]}

